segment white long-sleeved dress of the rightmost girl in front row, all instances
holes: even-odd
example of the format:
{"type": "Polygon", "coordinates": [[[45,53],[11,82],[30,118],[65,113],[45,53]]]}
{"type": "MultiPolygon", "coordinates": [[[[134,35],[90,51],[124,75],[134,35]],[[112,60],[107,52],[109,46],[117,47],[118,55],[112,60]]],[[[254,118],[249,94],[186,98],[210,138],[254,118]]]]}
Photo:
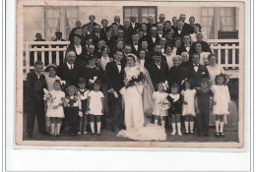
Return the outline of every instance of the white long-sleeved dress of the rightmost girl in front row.
{"type": "Polygon", "coordinates": [[[227,86],[212,86],[214,92],[214,100],[216,105],[213,107],[214,115],[228,115],[228,103],[230,102],[230,94],[227,86]]]}

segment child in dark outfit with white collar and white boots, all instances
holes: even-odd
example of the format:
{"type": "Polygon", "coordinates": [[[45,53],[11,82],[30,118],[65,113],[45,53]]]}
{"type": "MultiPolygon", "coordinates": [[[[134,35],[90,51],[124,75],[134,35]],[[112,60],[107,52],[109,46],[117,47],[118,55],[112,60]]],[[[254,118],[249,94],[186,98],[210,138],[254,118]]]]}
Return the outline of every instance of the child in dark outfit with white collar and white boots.
{"type": "Polygon", "coordinates": [[[178,84],[172,84],[171,92],[167,96],[168,101],[170,102],[168,115],[171,117],[171,126],[172,133],[171,135],[176,134],[176,125],[178,136],[182,136],[181,125],[180,125],[180,114],[182,110],[182,100],[181,95],[178,93],[179,86],[178,84]]]}

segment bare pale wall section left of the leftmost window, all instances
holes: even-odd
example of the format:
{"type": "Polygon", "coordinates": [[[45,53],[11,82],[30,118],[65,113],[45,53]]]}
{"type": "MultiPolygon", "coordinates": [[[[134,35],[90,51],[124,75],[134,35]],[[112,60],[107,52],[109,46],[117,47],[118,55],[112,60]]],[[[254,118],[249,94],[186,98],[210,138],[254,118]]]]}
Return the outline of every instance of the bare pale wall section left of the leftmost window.
{"type": "Polygon", "coordinates": [[[24,7],[24,40],[34,40],[36,32],[40,32],[44,38],[44,9],[24,7]]]}

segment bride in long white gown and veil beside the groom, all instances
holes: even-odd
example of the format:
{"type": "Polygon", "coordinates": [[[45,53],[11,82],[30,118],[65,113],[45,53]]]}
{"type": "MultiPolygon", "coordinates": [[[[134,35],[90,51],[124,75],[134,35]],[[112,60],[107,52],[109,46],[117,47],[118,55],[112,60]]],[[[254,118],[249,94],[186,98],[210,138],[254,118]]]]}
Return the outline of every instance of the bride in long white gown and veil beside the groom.
{"type": "Polygon", "coordinates": [[[127,67],[124,70],[126,86],[120,93],[124,100],[126,130],[120,131],[117,136],[135,141],[165,141],[164,127],[155,126],[146,120],[146,113],[153,107],[154,92],[149,72],[140,65],[138,58],[133,54],[127,56],[127,67]],[[138,80],[130,82],[129,85],[132,78],[138,80]]]}

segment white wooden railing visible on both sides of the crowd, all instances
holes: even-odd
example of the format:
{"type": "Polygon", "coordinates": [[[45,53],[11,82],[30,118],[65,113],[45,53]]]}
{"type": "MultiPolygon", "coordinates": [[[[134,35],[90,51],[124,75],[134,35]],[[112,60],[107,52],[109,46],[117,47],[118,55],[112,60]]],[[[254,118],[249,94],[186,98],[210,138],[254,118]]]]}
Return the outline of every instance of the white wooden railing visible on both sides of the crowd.
{"type": "MultiPolygon", "coordinates": [[[[38,52],[40,52],[42,62],[45,62],[45,54],[47,54],[48,63],[52,63],[53,52],[56,52],[54,53],[56,54],[54,55],[56,57],[56,65],[59,65],[60,52],[63,52],[63,56],[65,56],[67,45],[69,45],[69,43],[70,41],[26,41],[24,44],[24,73],[27,74],[33,68],[32,64],[37,60],[38,52]],[[64,47],[59,47],[57,45],[63,45],[64,47]],[[39,48],[37,46],[41,47],[39,48]],[[32,54],[33,62],[31,62],[32,54]]],[[[218,64],[221,65],[224,70],[229,71],[229,73],[238,73],[239,40],[209,39],[208,43],[210,44],[213,53],[218,56],[218,64]]]]}

